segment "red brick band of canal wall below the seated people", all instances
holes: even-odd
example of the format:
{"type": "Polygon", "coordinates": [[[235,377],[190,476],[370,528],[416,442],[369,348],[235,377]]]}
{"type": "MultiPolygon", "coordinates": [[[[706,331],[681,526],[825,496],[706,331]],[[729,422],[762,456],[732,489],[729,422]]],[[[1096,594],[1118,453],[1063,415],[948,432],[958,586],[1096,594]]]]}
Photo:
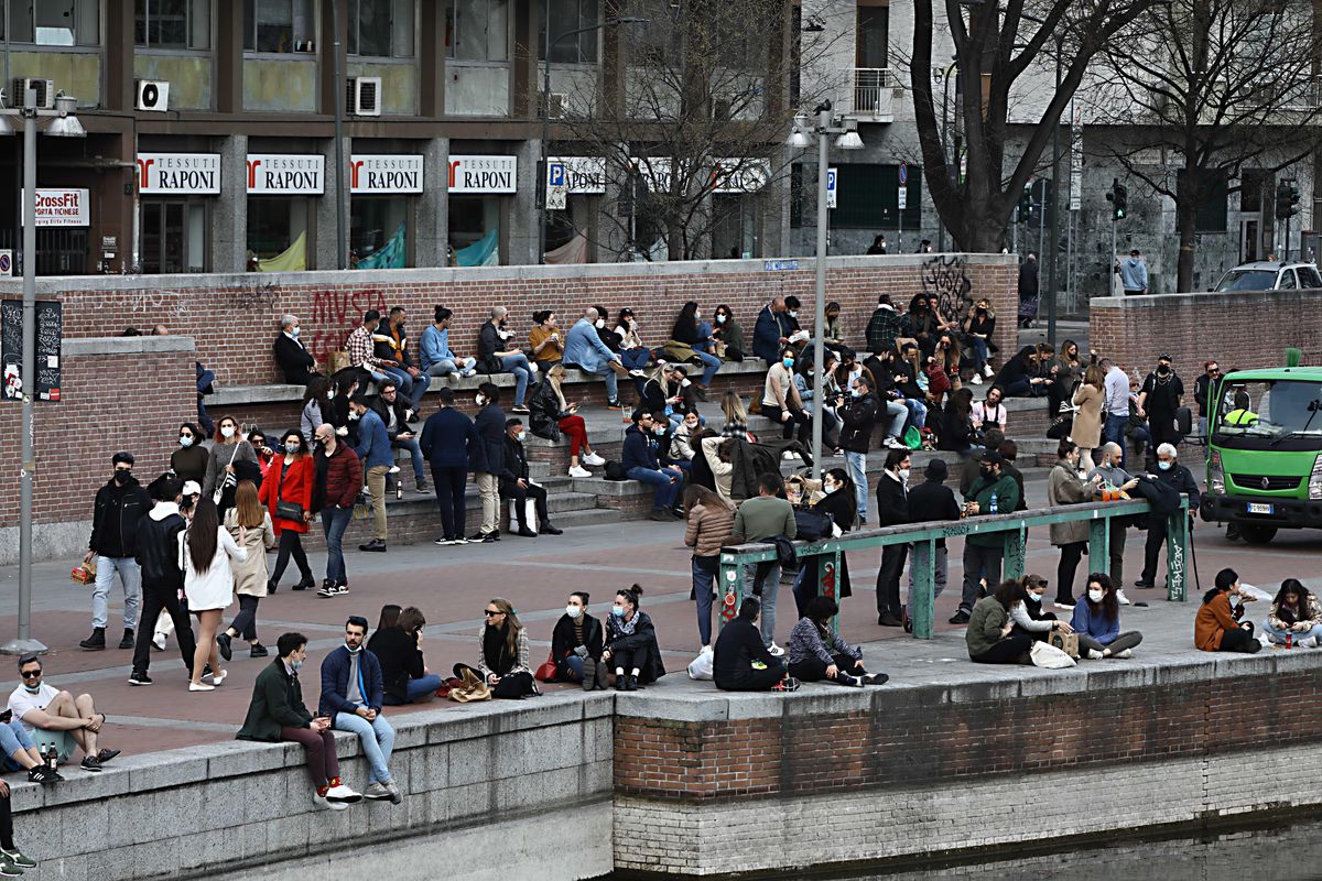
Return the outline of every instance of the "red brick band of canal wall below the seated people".
{"type": "Polygon", "coordinates": [[[1296,709],[1319,686],[1310,670],[958,703],[904,689],[878,692],[866,712],[772,719],[617,715],[615,787],[682,802],[809,795],[1315,742],[1322,733],[1296,709]]]}

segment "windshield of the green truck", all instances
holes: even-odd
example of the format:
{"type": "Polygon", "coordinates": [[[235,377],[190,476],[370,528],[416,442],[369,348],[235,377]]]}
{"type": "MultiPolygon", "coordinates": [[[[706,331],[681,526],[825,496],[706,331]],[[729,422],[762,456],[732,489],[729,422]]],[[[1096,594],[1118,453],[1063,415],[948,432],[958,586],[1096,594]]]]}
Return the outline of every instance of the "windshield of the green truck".
{"type": "Polygon", "coordinates": [[[1322,442],[1319,382],[1235,382],[1231,376],[1220,392],[1214,444],[1266,449],[1290,439],[1302,440],[1309,448],[1322,442]]]}

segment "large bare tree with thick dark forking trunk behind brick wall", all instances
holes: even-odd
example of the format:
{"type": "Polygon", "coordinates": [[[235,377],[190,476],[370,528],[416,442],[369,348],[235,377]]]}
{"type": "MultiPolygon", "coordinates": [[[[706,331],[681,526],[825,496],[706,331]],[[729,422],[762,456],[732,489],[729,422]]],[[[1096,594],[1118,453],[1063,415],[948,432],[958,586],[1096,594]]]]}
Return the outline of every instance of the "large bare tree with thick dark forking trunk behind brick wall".
{"type": "Polygon", "coordinates": [[[933,103],[932,42],[936,0],[914,0],[910,81],[923,155],[923,176],[937,214],[964,251],[998,251],[1023,188],[1032,177],[1069,99],[1092,59],[1120,30],[1158,0],[944,0],[960,70],[962,180],[944,149],[933,103]],[[1006,173],[1010,108],[1029,79],[1044,79],[1046,62],[1060,58],[1060,82],[1040,119],[1027,125],[1022,152],[1006,173]]]}

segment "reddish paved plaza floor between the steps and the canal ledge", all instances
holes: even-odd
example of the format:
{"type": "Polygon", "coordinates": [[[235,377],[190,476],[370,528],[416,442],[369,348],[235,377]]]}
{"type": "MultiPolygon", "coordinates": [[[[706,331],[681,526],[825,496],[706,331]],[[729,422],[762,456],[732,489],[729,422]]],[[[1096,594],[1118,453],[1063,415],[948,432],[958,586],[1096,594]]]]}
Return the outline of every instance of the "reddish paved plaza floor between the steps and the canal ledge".
{"type": "MultiPolygon", "coordinates": [[[[1046,481],[1029,481],[1030,505],[1046,502],[1046,481]]],[[[521,539],[505,536],[500,543],[439,548],[430,543],[391,546],[387,553],[348,556],[352,592],[333,600],[319,598],[315,592],[293,593],[288,584],[279,593],[262,601],[258,613],[259,635],[270,646],[286,630],[299,630],[311,638],[309,675],[304,676],[304,697],[316,705],[316,668],[325,652],[340,645],[344,619],[349,614],[366,616],[375,622],[386,602],[416,605],[427,616],[423,643],[428,666],[448,675],[455,662],[473,663],[477,630],[484,604],[494,596],[508,597],[529,627],[531,660],[545,660],[551,627],[561,616],[570,590],[584,589],[592,594],[592,613],[603,616],[613,592],[639,582],[645,586],[642,608],[657,626],[666,668],[685,678],[683,668],[698,649],[694,605],[689,600],[689,551],[683,547],[683,524],[621,522],[612,526],[571,528],[559,538],[521,539]]],[[[1142,565],[1144,535],[1130,531],[1125,565],[1126,581],[1133,582],[1142,565]]],[[[850,555],[854,597],[843,602],[842,631],[846,639],[865,646],[865,656],[874,670],[904,683],[964,682],[990,674],[974,672],[964,650],[962,627],[945,623],[958,601],[961,543],[951,544],[951,582],[937,600],[937,638],[917,641],[898,629],[876,626],[874,582],[880,553],[850,555]]],[[[1029,542],[1029,571],[1055,581],[1058,552],[1048,543],[1046,530],[1035,530],[1029,542]]],[[[36,567],[33,634],[50,647],[45,658],[46,680],[78,693],[90,692],[97,708],[110,722],[102,734],[107,746],[144,753],[186,745],[219,742],[233,738],[242,724],[251,693],[253,679],[267,663],[250,659],[247,647],[235,641],[234,659],[226,666],[226,684],[206,693],[186,691],[186,678],[173,639],[164,652],[152,654],[151,687],[131,687],[131,651],[107,649],[83,651],[78,641],[87,635],[90,623],[90,588],[69,580],[75,560],[44,563],[36,567]]],[[[1080,581],[1088,560],[1080,565],[1080,581]]],[[[324,556],[312,557],[320,575],[324,556]]],[[[1318,532],[1281,532],[1266,547],[1228,543],[1223,530],[1199,524],[1196,530],[1196,565],[1203,589],[1211,585],[1216,571],[1233,567],[1245,582],[1274,592],[1285,577],[1298,577],[1310,588],[1322,589],[1322,535],[1318,532]]],[[[290,576],[286,576],[290,581],[290,576]]],[[[1161,576],[1158,576],[1158,584],[1161,576]]],[[[116,588],[118,589],[118,588],[116,588]]],[[[1077,588],[1076,588],[1077,589],[1077,588]]],[[[1051,588],[1054,592],[1054,585],[1051,588]]],[[[1196,656],[1192,649],[1192,619],[1199,592],[1190,580],[1190,601],[1171,604],[1161,589],[1126,588],[1134,601],[1146,608],[1125,608],[1121,627],[1144,633],[1144,645],[1133,660],[1093,662],[1113,664],[1159,664],[1181,656],[1196,656]]],[[[795,623],[793,598],[788,586],[780,594],[777,641],[784,643],[795,623]]],[[[111,596],[111,626],[107,642],[118,643],[119,604],[111,596]]],[[[1255,621],[1265,616],[1266,604],[1255,604],[1255,621]]],[[[0,568],[0,635],[16,630],[17,568],[0,568]]],[[[230,610],[237,612],[237,605],[230,610]]],[[[1303,650],[1298,650],[1303,651],[1303,650]]],[[[17,686],[11,660],[3,660],[0,683],[5,695],[17,686]]],[[[1022,668],[1006,668],[995,676],[1025,675],[1022,668]]],[[[678,686],[668,680],[665,689],[678,686]]],[[[830,686],[816,686],[830,688],[830,686]]],[[[549,689],[566,688],[549,686],[549,689]]],[[[691,683],[690,688],[714,688],[710,683],[691,683]]],[[[534,699],[535,700],[535,699],[534,699]]],[[[391,708],[390,713],[420,709],[464,712],[449,701],[391,708]]]]}

